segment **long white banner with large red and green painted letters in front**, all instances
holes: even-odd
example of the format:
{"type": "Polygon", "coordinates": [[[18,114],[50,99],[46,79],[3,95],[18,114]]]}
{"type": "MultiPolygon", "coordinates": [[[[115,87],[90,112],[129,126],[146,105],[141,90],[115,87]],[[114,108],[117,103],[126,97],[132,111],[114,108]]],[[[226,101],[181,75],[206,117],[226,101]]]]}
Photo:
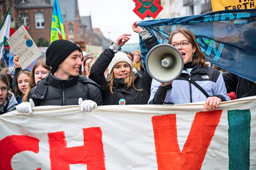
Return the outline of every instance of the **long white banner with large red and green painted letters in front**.
{"type": "Polygon", "coordinates": [[[0,116],[0,169],[256,169],[256,97],[0,116]]]}

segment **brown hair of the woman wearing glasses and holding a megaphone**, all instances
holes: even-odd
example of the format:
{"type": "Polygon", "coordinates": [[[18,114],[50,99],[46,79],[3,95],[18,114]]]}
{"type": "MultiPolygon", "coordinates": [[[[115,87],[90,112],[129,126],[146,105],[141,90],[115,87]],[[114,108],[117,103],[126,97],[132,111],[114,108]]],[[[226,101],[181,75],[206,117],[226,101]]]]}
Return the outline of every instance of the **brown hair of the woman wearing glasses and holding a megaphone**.
{"type": "Polygon", "coordinates": [[[196,48],[196,51],[194,52],[194,56],[192,58],[192,63],[193,63],[193,66],[196,66],[197,64],[199,64],[199,67],[207,67],[208,64],[206,63],[206,60],[205,60],[205,57],[199,47],[199,44],[197,43],[197,40],[196,40],[196,37],[195,35],[189,31],[188,29],[186,28],[179,28],[179,29],[176,29],[174,30],[171,34],[170,34],[170,37],[169,37],[169,41],[168,41],[168,44],[171,44],[172,42],[172,37],[174,34],[176,33],[182,33],[187,39],[188,41],[191,42],[192,44],[192,47],[196,48]]]}

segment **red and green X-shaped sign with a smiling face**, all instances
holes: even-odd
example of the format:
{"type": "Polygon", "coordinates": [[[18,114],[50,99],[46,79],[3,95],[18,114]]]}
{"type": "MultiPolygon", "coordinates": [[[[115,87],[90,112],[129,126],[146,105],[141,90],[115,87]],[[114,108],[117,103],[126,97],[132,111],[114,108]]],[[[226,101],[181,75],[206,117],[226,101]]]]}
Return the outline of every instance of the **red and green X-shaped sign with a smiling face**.
{"type": "Polygon", "coordinates": [[[133,12],[141,19],[145,17],[155,18],[163,7],[160,5],[160,0],[133,0],[136,4],[133,12]]]}

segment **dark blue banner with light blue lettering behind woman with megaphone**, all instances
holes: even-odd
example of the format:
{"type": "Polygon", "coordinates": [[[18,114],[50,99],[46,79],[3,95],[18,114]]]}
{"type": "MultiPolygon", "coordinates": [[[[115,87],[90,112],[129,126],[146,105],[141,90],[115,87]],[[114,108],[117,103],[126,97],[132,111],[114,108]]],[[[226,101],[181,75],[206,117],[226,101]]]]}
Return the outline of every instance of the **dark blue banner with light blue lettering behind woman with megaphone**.
{"type": "MultiPolygon", "coordinates": [[[[140,21],[138,26],[156,36],[159,44],[168,43],[169,34],[175,29],[187,28],[196,35],[207,61],[256,82],[255,21],[256,9],[226,10],[179,18],[140,21]]],[[[140,50],[145,64],[148,51],[141,37],[140,50]]]]}

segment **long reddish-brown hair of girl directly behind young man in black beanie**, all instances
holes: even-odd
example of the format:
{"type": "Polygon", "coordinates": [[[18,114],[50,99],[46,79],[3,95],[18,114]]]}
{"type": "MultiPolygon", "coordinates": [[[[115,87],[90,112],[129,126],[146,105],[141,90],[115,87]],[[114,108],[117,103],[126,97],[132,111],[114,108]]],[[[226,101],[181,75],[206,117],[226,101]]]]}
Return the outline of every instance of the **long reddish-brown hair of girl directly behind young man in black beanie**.
{"type": "Polygon", "coordinates": [[[26,91],[26,93],[24,94],[23,98],[22,98],[22,102],[27,102],[28,100],[28,93],[30,92],[30,90],[35,87],[35,69],[39,66],[43,66],[45,69],[50,70],[51,67],[46,65],[45,59],[41,59],[38,60],[37,62],[35,62],[32,71],[30,72],[30,76],[29,76],[29,87],[26,91]]]}

